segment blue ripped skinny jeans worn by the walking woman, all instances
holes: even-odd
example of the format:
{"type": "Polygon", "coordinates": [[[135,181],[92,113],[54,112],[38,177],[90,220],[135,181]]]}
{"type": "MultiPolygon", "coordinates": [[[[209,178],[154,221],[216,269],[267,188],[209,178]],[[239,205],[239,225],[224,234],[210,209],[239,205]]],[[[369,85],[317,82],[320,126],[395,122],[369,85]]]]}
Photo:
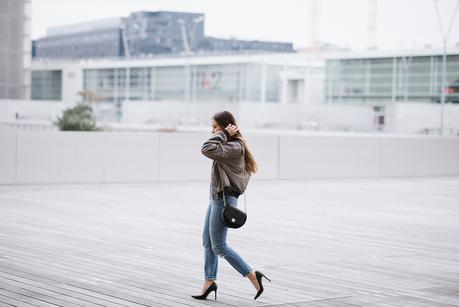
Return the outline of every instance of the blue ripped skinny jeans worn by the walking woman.
{"type": "MultiPolygon", "coordinates": [[[[237,207],[237,198],[226,197],[230,206],[237,207]]],[[[211,200],[207,209],[202,241],[204,246],[204,278],[217,279],[218,256],[226,259],[242,276],[246,277],[252,269],[231,247],[226,244],[228,227],[220,221],[223,199],[211,200]]]]}

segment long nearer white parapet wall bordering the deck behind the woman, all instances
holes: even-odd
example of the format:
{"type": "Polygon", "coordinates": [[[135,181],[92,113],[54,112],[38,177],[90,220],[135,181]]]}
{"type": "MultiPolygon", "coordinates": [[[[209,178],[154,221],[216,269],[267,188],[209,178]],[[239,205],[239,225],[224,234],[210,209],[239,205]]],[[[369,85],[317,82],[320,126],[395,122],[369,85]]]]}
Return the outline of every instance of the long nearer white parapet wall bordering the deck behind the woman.
{"type": "MultiPolygon", "coordinates": [[[[0,132],[0,184],[209,180],[209,134],[0,132]]],[[[251,133],[253,179],[459,175],[459,138],[251,133]]]]}

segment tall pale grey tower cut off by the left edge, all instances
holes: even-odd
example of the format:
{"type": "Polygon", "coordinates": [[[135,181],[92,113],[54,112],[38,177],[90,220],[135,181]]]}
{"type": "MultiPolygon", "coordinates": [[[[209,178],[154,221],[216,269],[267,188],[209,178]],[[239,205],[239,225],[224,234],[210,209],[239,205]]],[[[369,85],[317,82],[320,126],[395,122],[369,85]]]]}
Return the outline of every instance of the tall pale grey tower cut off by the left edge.
{"type": "Polygon", "coordinates": [[[30,0],[0,0],[0,98],[30,97],[30,0]]]}

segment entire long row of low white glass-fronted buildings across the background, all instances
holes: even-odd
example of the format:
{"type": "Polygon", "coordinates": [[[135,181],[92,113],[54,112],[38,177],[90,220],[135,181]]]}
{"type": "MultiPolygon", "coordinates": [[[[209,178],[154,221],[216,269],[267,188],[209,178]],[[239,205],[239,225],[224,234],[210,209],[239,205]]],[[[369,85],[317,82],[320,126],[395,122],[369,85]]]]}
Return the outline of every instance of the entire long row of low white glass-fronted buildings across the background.
{"type": "MultiPolygon", "coordinates": [[[[441,54],[253,54],[35,61],[33,99],[374,104],[440,101],[441,54]],[[314,92],[314,93],[313,93],[314,92]],[[69,94],[70,93],[70,94],[69,94]],[[313,95],[311,95],[313,93],[313,95]],[[73,95],[73,96],[72,96],[73,95]]],[[[447,56],[447,101],[459,102],[459,49],[447,56]]]]}

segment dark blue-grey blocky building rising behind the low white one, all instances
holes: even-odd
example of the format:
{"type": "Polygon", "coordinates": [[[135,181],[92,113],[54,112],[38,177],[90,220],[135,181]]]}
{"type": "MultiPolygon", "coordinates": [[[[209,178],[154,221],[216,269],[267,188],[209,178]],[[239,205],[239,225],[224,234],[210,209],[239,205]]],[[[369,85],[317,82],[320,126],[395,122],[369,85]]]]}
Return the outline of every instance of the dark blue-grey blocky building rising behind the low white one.
{"type": "Polygon", "coordinates": [[[204,36],[204,15],[135,12],[112,18],[54,27],[36,41],[36,58],[145,56],[200,51],[292,52],[291,43],[218,39],[204,36]]]}

